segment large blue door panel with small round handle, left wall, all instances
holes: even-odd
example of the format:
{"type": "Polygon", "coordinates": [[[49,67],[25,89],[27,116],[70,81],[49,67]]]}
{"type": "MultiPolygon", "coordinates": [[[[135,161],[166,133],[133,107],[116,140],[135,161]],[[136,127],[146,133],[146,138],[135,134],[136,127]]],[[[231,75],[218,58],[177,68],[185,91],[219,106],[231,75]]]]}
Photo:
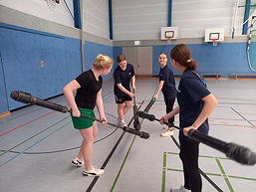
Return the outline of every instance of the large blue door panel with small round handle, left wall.
{"type": "Polygon", "coordinates": [[[9,109],[23,105],[9,97],[15,90],[41,98],[62,94],[68,83],[64,38],[5,28],[0,33],[9,109]],[[40,61],[45,63],[43,68],[40,61]]]}

